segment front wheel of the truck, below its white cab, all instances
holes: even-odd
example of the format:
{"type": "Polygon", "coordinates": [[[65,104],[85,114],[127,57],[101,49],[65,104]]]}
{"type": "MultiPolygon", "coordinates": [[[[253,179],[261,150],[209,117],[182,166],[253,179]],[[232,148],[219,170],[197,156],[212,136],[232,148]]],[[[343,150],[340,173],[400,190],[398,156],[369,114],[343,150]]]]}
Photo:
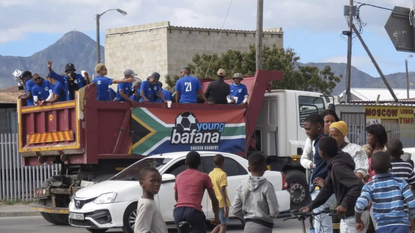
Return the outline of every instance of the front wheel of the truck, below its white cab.
{"type": "Polygon", "coordinates": [[[290,192],[291,209],[299,209],[310,203],[311,197],[305,173],[291,170],[286,173],[288,192],[290,192]]]}

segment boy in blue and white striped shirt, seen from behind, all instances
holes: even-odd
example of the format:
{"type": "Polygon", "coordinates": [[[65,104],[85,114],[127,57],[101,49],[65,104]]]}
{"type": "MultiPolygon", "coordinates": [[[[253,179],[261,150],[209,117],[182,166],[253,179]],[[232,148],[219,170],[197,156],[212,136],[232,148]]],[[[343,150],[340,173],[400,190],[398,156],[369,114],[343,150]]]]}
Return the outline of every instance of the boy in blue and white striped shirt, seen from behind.
{"type": "Polygon", "coordinates": [[[361,213],[372,201],[373,215],[378,226],[376,233],[413,232],[415,198],[408,183],[388,172],[391,168],[391,158],[386,152],[376,152],[371,158],[371,168],[375,170],[376,175],[371,182],[363,186],[354,206],[356,230],[363,231],[361,213]],[[405,213],[404,203],[408,204],[408,215],[405,213]]]}

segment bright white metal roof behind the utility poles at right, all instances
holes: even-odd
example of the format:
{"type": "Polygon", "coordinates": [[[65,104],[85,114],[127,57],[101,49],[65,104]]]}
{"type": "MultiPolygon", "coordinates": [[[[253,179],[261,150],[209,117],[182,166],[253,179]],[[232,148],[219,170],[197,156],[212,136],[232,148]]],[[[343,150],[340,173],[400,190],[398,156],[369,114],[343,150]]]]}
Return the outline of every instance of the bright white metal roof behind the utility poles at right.
{"type": "MultiPolygon", "coordinates": [[[[346,91],[342,92],[339,97],[343,97],[346,91]]],[[[399,100],[407,99],[406,89],[393,88],[393,92],[399,100]]],[[[350,88],[350,93],[360,100],[393,100],[391,93],[387,88],[350,88]]],[[[409,98],[415,98],[415,89],[409,89],[409,98]]]]}

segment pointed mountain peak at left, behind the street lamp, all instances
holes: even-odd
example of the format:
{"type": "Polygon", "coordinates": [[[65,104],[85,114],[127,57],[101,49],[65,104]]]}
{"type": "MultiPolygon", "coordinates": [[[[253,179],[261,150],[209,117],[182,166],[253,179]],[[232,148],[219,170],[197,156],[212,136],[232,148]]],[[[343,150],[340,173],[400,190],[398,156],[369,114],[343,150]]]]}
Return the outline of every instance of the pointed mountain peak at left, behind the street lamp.
{"type": "MultiPolygon", "coordinates": [[[[104,46],[100,48],[101,62],[104,61],[104,46]]],[[[29,70],[45,77],[49,72],[46,62],[53,61],[53,70],[63,73],[67,63],[73,63],[76,73],[87,70],[92,77],[97,63],[97,44],[86,34],[71,31],[46,49],[34,53],[29,57],[1,56],[0,55],[0,88],[17,85],[12,78],[15,69],[29,70]]]]}

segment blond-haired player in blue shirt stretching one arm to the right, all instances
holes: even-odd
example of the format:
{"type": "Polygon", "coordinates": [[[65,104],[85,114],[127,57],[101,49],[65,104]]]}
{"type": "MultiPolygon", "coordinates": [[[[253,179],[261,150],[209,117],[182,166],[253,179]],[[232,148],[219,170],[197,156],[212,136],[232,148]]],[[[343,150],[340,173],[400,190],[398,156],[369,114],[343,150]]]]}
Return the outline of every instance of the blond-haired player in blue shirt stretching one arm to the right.
{"type": "Polygon", "coordinates": [[[98,63],[95,66],[95,72],[98,73],[98,76],[92,80],[93,83],[97,85],[97,100],[108,101],[110,100],[110,95],[108,92],[108,86],[113,83],[134,83],[134,78],[127,78],[123,80],[113,80],[112,78],[107,78],[107,68],[105,64],[98,63]]]}

